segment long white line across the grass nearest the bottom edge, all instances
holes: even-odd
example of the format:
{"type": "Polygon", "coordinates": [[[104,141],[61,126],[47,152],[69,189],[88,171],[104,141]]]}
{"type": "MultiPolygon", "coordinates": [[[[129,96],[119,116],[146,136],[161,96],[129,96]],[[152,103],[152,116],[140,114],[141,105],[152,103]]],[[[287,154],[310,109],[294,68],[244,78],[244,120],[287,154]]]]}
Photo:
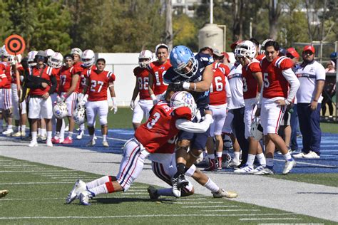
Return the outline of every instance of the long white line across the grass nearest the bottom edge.
{"type": "Polygon", "coordinates": [[[24,217],[0,217],[0,219],[105,219],[105,218],[138,218],[138,217],[173,217],[173,216],[282,216],[282,215],[294,215],[294,214],[158,214],[158,215],[121,215],[121,216],[24,216],[24,217]]]}

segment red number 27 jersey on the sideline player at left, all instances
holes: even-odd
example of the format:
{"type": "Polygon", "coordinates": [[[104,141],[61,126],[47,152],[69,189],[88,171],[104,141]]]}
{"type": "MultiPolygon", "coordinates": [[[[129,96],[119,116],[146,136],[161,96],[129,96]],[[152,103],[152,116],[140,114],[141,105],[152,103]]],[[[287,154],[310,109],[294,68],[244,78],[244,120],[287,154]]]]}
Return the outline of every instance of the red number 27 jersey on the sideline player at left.
{"type": "Polygon", "coordinates": [[[115,81],[115,75],[108,71],[96,73],[96,70],[90,69],[87,71],[86,78],[89,80],[88,101],[107,100],[108,85],[115,81]]]}

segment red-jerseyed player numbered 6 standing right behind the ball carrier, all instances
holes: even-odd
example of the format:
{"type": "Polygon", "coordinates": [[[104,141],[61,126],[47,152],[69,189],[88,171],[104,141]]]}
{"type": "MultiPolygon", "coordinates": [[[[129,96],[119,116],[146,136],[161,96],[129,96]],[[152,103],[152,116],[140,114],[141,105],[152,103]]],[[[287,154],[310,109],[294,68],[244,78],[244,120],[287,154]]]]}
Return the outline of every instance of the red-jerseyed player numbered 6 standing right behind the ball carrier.
{"type": "MultiPolygon", "coordinates": [[[[226,66],[227,67],[227,66],[226,66]]],[[[222,127],[227,117],[227,100],[231,98],[230,85],[222,67],[213,69],[212,84],[210,86],[209,108],[214,122],[210,125],[210,137],[207,140],[209,167],[205,171],[216,169],[215,150],[217,155],[217,169],[222,169],[222,127]],[[215,138],[215,145],[213,139],[215,138]]]]}

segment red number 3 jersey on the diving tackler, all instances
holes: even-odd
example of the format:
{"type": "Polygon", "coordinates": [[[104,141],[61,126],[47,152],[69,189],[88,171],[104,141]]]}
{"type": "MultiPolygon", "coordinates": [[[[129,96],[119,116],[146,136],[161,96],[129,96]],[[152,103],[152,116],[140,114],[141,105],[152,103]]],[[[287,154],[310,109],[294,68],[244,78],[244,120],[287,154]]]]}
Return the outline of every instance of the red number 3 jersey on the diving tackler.
{"type": "Polygon", "coordinates": [[[148,152],[158,153],[158,148],[178,134],[175,122],[180,118],[190,120],[190,108],[180,107],[174,110],[169,103],[160,101],[150,110],[148,121],[136,129],[135,138],[148,152]]]}

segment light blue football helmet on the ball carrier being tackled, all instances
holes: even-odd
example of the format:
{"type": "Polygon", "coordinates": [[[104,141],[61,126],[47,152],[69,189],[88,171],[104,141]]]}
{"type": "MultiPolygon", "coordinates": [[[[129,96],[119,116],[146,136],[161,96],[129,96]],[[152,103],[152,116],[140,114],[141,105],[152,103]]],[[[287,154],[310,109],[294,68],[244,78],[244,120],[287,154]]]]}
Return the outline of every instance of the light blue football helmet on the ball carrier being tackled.
{"type": "Polygon", "coordinates": [[[198,61],[193,52],[185,46],[175,46],[170,53],[170,63],[176,73],[183,78],[191,78],[198,71],[198,61]],[[190,68],[185,69],[191,62],[190,68]]]}

